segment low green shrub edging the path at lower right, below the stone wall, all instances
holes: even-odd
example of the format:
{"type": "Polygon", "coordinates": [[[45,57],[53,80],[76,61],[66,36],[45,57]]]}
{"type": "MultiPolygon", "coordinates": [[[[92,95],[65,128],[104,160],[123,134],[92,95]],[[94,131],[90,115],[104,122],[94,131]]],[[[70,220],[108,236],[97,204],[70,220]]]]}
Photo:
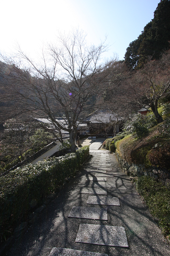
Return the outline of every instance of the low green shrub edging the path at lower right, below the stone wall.
{"type": "Polygon", "coordinates": [[[149,176],[141,176],[136,187],[144,197],[152,216],[159,219],[164,236],[170,238],[170,188],[149,176]]]}

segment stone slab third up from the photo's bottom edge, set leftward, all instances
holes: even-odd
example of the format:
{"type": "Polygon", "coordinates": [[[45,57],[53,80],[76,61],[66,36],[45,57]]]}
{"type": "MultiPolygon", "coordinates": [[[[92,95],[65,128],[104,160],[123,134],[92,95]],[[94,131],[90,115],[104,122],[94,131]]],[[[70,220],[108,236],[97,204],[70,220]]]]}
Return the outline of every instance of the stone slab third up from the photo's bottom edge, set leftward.
{"type": "Polygon", "coordinates": [[[107,220],[107,209],[106,208],[73,206],[68,217],[107,220]]]}

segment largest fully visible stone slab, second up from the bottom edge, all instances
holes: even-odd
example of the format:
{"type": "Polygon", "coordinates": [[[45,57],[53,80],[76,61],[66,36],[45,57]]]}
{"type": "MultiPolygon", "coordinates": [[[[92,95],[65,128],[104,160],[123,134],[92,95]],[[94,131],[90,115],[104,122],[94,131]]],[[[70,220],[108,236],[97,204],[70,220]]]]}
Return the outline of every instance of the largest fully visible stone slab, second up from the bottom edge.
{"type": "Polygon", "coordinates": [[[124,227],[80,224],[76,242],[129,247],[124,227]]]}

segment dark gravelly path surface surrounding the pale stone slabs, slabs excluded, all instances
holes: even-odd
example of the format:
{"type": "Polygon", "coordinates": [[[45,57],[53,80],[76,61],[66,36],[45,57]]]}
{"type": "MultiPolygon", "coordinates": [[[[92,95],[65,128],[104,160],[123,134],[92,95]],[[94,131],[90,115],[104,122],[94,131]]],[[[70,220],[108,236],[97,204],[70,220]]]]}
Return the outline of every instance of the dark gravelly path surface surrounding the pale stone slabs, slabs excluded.
{"type": "Polygon", "coordinates": [[[107,188],[107,195],[119,197],[120,206],[86,204],[89,194],[81,194],[80,191],[90,185],[90,181],[86,182],[86,178],[89,175],[92,176],[89,174],[90,170],[96,170],[98,152],[99,150],[91,151],[90,161],[70,183],[63,187],[59,196],[45,208],[37,222],[15,242],[6,255],[48,256],[53,247],[101,252],[110,256],[167,256],[170,254],[170,248],[161,230],[150,216],[129,176],[119,168],[113,154],[109,154],[112,171],[106,172],[110,175],[108,181],[115,182],[116,188],[107,188]],[[68,218],[72,206],[107,208],[108,220],[68,218]],[[80,224],[123,226],[129,248],[77,243],[75,239],[80,224]]]}

